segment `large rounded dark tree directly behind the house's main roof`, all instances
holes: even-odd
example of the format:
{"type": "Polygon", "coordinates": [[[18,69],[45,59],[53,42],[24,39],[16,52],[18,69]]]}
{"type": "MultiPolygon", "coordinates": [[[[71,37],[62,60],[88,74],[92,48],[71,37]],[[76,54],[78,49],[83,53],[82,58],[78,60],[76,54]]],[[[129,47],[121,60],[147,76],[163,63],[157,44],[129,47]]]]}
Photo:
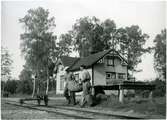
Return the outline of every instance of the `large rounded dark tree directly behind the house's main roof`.
{"type": "Polygon", "coordinates": [[[96,17],[80,18],[72,29],[74,50],[78,51],[81,57],[86,57],[91,53],[108,49],[113,27],[115,23],[110,20],[101,23],[96,17]]]}

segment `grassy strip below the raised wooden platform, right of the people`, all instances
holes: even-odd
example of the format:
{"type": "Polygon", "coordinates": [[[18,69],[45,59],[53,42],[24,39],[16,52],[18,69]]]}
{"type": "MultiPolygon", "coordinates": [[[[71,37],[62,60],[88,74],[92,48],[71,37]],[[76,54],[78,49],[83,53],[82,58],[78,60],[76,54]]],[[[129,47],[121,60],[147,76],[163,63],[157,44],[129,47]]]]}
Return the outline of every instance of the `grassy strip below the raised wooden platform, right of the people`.
{"type": "Polygon", "coordinates": [[[158,97],[153,98],[153,101],[149,101],[148,99],[131,99],[128,100],[125,98],[124,103],[119,103],[118,97],[108,96],[107,100],[102,101],[99,107],[112,108],[113,110],[122,110],[122,111],[130,111],[139,112],[143,114],[149,115],[163,115],[166,116],[166,98],[158,97]]]}

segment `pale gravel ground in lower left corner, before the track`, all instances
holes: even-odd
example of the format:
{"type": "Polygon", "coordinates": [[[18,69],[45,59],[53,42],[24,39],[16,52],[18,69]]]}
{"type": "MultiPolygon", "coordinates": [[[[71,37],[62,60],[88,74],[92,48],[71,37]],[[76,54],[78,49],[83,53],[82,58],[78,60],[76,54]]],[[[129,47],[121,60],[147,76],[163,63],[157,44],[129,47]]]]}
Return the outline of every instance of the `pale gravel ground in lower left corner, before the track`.
{"type": "Polygon", "coordinates": [[[1,99],[1,118],[6,119],[67,119],[62,115],[5,104],[1,99]]]}

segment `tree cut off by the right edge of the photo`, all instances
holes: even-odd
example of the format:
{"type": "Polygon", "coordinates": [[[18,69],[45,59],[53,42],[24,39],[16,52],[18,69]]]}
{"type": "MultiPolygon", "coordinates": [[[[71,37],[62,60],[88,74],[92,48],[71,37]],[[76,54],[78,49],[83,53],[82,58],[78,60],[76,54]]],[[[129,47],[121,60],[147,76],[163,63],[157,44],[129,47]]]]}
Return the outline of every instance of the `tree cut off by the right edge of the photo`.
{"type": "Polygon", "coordinates": [[[166,80],[166,29],[154,39],[154,68],[166,80]]]}

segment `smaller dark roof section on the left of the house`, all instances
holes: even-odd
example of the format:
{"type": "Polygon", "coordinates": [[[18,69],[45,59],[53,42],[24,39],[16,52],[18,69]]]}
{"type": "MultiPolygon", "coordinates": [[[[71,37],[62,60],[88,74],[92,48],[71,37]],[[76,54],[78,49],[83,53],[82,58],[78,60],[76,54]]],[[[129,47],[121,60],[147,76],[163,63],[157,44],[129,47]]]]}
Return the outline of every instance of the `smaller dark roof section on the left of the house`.
{"type": "Polygon", "coordinates": [[[60,57],[60,59],[64,66],[71,66],[76,60],[78,60],[77,57],[69,57],[69,56],[62,56],[60,57]]]}

